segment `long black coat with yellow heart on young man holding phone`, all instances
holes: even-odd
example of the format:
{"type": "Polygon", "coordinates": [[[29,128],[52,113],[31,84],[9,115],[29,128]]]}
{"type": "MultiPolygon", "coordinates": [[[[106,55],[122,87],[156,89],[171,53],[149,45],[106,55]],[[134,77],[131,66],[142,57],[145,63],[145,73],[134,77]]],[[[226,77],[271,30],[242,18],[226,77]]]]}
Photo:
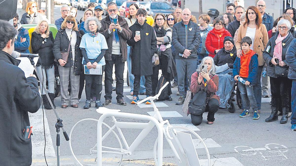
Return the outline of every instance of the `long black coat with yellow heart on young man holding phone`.
{"type": "Polygon", "coordinates": [[[132,31],[131,39],[127,41],[131,46],[131,73],[141,76],[152,75],[152,56],[157,51],[153,27],[146,22],[140,25],[136,21],[129,29],[132,31]],[[135,42],[133,38],[138,30],[141,32],[141,40],[135,42]]]}

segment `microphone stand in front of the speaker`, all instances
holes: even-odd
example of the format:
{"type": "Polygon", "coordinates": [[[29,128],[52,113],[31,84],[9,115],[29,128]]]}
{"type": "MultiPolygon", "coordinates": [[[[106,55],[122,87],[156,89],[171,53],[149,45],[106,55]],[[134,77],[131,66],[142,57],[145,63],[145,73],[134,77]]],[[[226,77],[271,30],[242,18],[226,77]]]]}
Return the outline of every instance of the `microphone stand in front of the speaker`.
{"type": "MultiPolygon", "coordinates": [[[[33,61],[33,58],[34,57],[36,57],[36,56],[33,56],[33,55],[32,56],[30,56],[30,55],[28,56],[31,64],[34,67],[34,70],[36,71],[37,77],[38,78],[41,78],[41,77],[39,77],[39,74],[38,74],[37,69],[36,69],[35,62],[33,61]]],[[[55,108],[54,108],[54,106],[52,104],[52,101],[49,98],[49,95],[48,95],[48,93],[46,91],[46,87],[44,87],[43,85],[42,85],[42,87],[43,87],[43,90],[45,91],[45,95],[46,95],[46,97],[47,97],[50,105],[52,106],[52,109],[54,110],[54,114],[57,117],[57,123],[55,124],[55,128],[56,128],[56,131],[57,131],[57,140],[56,140],[56,143],[57,143],[57,166],[59,166],[60,165],[60,161],[59,161],[59,146],[60,146],[59,132],[60,132],[60,128],[62,128],[62,130],[63,130],[63,134],[64,134],[64,137],[65,137],[66,141],[69,141],[69,136],[68,136],[67,132],[64,129],[64,125],[62,123],[63,120],[61,118],[59,118],[59,115],[57,114],[57,111],[55,110],[55,108]]]]}

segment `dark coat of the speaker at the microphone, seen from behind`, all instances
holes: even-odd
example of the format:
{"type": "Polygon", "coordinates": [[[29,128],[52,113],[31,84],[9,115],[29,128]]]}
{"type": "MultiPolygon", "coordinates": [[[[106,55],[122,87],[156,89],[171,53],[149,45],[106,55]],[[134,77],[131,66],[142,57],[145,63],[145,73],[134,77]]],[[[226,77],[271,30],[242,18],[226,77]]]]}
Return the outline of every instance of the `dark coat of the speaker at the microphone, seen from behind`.
{"type": "Polygon", "coordinates": [[[19,63],[0,51],[0,163],[5,166],[31,165],[31,139],[24,139],[22,131],[30,126],[28,112],[35,113],[41,105],[37,79],[26,79],[19,63]]]}

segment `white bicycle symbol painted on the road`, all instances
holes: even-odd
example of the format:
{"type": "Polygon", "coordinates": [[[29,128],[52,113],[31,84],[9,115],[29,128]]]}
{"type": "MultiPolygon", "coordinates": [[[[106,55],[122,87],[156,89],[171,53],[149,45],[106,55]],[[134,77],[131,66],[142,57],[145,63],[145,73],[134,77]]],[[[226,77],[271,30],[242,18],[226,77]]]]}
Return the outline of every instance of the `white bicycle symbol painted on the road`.
{"type": "Polygon", "coordinates": [[[263,157],[263,160],[270,160],[272,157],[281,157],[282,160],[287,160],[287,156],[284,154],[288,152],[286,146],[281,144],[266,144],[263,148],[252,148],[248,146],[237,146],[234,147],[234,151],[245,156],[254,156],[259,154],[260,157],[263,157]],[[262,151],[262,152],[261,152],[262,151]],[[263,151],[272,153],[273,155],[264,156],[263,151]]]}

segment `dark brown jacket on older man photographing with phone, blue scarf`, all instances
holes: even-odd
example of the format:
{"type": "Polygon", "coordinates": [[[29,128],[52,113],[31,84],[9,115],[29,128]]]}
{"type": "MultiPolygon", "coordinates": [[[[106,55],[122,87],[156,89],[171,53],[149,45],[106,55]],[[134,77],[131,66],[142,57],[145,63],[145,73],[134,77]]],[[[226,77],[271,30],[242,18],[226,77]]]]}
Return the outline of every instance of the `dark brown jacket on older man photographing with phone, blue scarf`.
{"type": "MultiPolygon", "coordinates": [[[[118,32],[119,43],[120,43],[120,52],[122,54],[122,62],[125,62],[127,59],[127,45],[126,40],[131,38],[131,31],[128,28],[128,23],[125,19],[118,16],[118,23],[122,27],[122,32],[118,32]]],[[[113,41],[113,31],[109,34],[108,29],[111,24],[110,17],[107,16],[101,20],[102,27],[100,29],[100,33],[102,33],[107,41],[108,49],[105,53],[105,60],[111,61],[112,55],[112,41],[113,41]]]]}

